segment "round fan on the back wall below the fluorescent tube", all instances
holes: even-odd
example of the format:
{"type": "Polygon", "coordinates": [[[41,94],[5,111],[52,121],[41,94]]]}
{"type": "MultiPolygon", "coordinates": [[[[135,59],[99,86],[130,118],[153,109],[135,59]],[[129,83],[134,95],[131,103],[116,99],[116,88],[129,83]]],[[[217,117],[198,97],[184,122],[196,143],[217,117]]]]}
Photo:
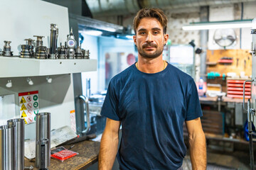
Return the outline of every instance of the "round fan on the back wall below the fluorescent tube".
{"type": "Polygon", "coordinates": [[[215,30],[213,39],[221,47],[233,45],[236,40],[235,30],[231,28],[215,30]]]}

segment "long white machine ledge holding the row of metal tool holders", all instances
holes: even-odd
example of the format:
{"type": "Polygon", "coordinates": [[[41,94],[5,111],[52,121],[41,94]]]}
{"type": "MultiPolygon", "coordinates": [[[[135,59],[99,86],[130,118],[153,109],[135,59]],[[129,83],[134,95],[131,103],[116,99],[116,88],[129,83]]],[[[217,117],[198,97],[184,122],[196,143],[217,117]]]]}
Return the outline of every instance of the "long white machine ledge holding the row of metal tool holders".
{"type": "Polygon", "coordinates": [[[38,60],[0,57],[0,78],[35,77],[97,70],[97,60],[38,60]]]}

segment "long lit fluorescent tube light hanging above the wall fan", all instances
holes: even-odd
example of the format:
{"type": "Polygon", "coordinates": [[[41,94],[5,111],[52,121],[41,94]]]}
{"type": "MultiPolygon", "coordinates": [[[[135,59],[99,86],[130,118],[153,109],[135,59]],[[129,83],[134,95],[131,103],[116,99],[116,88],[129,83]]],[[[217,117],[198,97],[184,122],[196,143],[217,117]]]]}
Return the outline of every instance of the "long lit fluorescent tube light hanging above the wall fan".
{"type": "Polygon", "coordinates": [[[188,26],[182,27],[183,30],[211,30],[225,28],[252,28],[252,20],[190,23],[188,26]]]}

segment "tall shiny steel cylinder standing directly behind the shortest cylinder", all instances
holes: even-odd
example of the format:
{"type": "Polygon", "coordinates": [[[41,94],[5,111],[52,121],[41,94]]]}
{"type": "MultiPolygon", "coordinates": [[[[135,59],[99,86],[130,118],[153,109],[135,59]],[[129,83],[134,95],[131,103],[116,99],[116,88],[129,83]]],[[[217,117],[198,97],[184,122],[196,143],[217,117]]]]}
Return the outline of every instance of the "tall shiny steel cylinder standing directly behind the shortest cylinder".
{"type": "MultiPolygon", "coordinates": [[[[50,159],[50,113],[37,113],[36,114],[36,141],[47,139],[48,145],[46,148],[50,159]]],[[[36,167],[40,165],[40,145],[36,145],[36,167]]],[[[49,160],[50,162],[50,160],[49,160]]]]}

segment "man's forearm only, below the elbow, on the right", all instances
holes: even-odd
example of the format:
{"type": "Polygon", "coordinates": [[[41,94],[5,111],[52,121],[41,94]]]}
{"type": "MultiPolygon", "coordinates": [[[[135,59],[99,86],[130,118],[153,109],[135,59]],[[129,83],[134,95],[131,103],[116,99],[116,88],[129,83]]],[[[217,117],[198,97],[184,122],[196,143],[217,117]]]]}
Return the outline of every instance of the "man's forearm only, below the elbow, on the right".
{"type": "Polygon", "coordinates": [[[189,137],[190,156],[192,169],[205,170],[206,159],[206,136],[203,132],[189,137]]]}

